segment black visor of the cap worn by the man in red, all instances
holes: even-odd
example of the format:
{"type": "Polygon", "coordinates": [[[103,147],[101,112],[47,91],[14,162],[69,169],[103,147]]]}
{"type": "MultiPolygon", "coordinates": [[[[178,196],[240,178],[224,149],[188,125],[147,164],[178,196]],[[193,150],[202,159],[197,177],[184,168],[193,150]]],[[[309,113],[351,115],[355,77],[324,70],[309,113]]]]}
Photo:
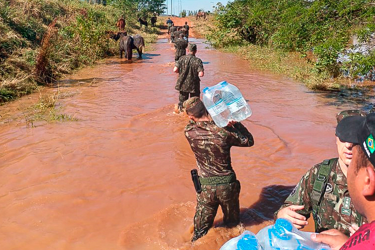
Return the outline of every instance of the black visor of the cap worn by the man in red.
{"type": "Polygon", "coordinates": [[[357,129],[363,120],[364,117],[360,115],[346,116],[342,118],[336,126],[336,136],[341,141],[358,144],[357,129]]]}

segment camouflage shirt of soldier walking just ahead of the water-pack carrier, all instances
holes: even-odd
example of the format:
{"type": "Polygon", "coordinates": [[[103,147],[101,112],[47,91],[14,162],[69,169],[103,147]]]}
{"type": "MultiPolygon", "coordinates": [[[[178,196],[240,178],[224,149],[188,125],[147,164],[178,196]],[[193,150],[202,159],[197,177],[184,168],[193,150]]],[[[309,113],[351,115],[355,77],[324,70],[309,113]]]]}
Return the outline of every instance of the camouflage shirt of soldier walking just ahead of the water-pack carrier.
{"type": "Polygon", "coordinates": [[[178,67],[178,79],[175,89],[184,92],[200,92],[198,72],[204,71],[203,62],[193,54],[182,55],[174,66],[178,67]]]}

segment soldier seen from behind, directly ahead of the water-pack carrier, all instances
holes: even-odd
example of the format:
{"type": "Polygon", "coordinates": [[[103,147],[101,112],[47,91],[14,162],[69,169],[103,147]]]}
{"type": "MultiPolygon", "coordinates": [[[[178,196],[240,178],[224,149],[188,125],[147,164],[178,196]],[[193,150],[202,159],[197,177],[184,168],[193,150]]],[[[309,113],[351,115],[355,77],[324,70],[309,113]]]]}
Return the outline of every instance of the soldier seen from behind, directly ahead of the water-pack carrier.
{"type": "Polygon", "coordinates": [[[173,72],[178,73],[175,89],[179,91],[178,108],[183,109],[183,102],[192,96],[199,96],[200,78],[204,75],[203,62],[195,57],[196,44],[189,44],[189,54],[182,55],[175,62],[173,72]]]}

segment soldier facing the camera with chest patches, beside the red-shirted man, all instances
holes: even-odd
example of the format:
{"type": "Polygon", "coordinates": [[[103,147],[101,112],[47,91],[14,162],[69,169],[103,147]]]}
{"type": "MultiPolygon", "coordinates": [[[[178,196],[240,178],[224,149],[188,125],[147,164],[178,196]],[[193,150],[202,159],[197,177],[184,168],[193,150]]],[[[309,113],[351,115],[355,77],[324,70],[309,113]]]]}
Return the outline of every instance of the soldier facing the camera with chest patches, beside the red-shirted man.
{"type": "Polygon", "coordinates": [[[345,110],[336,115],[338,158],[325,159],[308,170],[275,212],[275,219],[287,218],[299,229],[307,225],[307,218],[312,213],[315,232],[335,228],[347,236],[366,221],[355,210],[347,189],[346,172],[352,158],[353,142],[356,141],[356,128],[343,126],[340,121],[350,115],[364,116],[365,113],[345,110]]]}

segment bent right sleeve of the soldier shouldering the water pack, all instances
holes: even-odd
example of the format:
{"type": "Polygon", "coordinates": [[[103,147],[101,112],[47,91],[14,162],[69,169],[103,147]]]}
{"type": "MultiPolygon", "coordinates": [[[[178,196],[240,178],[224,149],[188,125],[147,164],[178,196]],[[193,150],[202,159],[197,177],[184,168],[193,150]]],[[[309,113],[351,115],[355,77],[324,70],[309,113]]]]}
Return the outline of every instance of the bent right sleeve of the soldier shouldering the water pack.
{"type": "Polygon", "coordinates": [[[229,132],[227,142],[231,146],[252,146],[254,138],[247,128],[240,122],[230,123],[225,130],[229,132]],[[233,125],[232,125],[233,124],[233,125]]]}

